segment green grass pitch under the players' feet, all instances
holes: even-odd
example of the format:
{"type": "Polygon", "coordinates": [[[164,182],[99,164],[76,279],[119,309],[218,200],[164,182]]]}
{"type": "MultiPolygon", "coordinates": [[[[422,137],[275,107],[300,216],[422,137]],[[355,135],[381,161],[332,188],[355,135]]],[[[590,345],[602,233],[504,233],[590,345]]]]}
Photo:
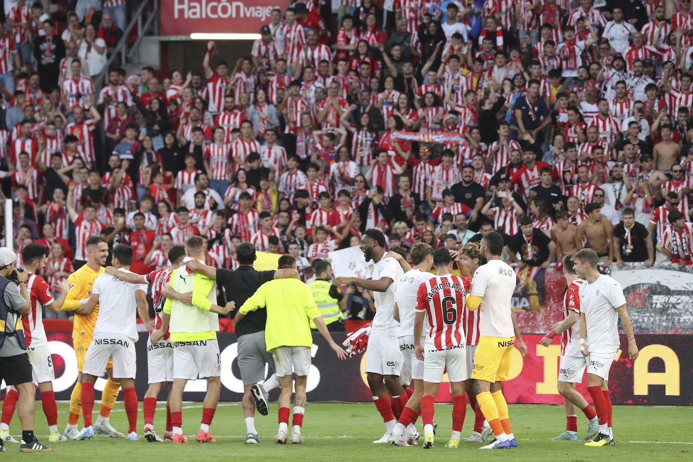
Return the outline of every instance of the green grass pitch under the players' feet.
{"type": "MultiPolygon", "coordinates": [[[[67,403],[58,404],[58,423],[60,431],[67,423],[67,403]]],[[[98,403],[95,407],[98,411],[98,403]]],[[[8,452],[0,454],[0,459],[22,459],[43,461],[205,461],[205,460],[265,460],[265,461],[439,461],[446,456],[462,458],[480,457],[489,460],[513,461],[601,461],[614,458],[621,461],[685,461],[693,460],[693,437],[690,425],[693,423],[691,407],[645,407],[615,406],[613,409],[614,434],[617,441],[613,447],[585,447],[579,442],[552,442],[565,429],[563,407],[549,405],[511,405],[510,418],[513,431],[520,447],[513,450],[483,451],[480,445],[461,443],[451,450],[444,447],[450,436],[452,406],[437,405],[435,419],[439,423],[435,447],[422,450],[416,447],[394,447],[374,445],[372,441],[385,431],[380,415],[372,403],[337,404],[308,403],[302,434],[304,445],[277,445],[274,434],[277,432],[277,405],[272,403],[269,416],[256,414],[256,428],[263,443],[245,444],[245,423],[240,404],[221,402],[211,425],[211,434],[216,444],[195,442],[200,418],[201,403],[184,404],[183,431],[188,436],[187,445],[172,443],[147,443],[142,436],[143,419],[140,409],[138,433],[140,441],[107,438],[97,435],[91,441],[68,441],[53,443],[53,451],[43,454],[19,454],[18,445],[7,444],[8,452]]],[[[96,412],[95,412],[96,414],[96,412]]],[[[94,416],[96,418],[96,415],[94,416]]],[[[164,434],[166,408],[164,403],[157,406],[155,428],[164,434]]],[[[473,427],[474,414],[467,408],[462,429],[463,440],[473,427]]],[[[111,414],[111,423],[120,432],[128,429],[123,403],[116,403],[111,414]]],[[[417,421],[421,431],[421,420],[417,421]]],[[[81,419],[80,419],[81,425],[81,419]]],[[[586,419],[578,417],[579,434],[584,434],[586,419]]],[[[15,415],[10,432],[20,438],[19,419],[15,415]]],[[[36,434],[43,443],[48,442],[46,420],[37,403],[35,418],[36,434]]],[[[423,436],[421,438],[423,442],[423,436]]]]}

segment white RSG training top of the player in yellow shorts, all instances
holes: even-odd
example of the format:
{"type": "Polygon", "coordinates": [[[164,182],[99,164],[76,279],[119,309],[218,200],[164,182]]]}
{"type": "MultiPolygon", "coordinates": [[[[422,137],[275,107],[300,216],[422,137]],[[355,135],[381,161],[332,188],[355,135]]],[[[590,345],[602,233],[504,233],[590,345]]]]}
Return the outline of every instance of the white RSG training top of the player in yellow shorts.
{"type": "Polygon", "coordinates": [[[483,297],[479,310],[479,331],[484,337],[513,337],[511,301],[517,276],[502,260],[489,260],[480,266],[472,278],[469,293],[483,297]]]}

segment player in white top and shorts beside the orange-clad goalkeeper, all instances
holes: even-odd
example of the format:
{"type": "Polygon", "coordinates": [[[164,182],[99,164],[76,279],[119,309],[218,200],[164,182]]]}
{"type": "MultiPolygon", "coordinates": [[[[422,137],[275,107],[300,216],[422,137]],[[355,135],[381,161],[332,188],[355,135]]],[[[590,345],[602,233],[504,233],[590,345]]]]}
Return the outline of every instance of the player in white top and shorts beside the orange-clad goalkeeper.
{"type": "MultiPolygon", "coordinates": [[[[113,266],[121,272],[130,272],[132,247],[116,245],[112,254],[113,266]]],[[[137,374],[137,357],[134,342],[137,341],[137,314],[148,330],[154,328],[149,319],[147,286],[131,284],[119,278],[101,274],[94,281],[89,301],[77,310],[77,314],[90,314],[99,305],[94,337],[85,355],[82,382],[82,412],[85,427],[75,436],[76,440],[94,438],[91,412],[94,410],[94,384],[103,375],[107,362],[113,362],[113,376],[123,385],[125,413],[128,414],[128,441],[137,441],[137,392],[134,377],[137,374]],[[100,302],[100,303],[99,303],[100,302]]]]}

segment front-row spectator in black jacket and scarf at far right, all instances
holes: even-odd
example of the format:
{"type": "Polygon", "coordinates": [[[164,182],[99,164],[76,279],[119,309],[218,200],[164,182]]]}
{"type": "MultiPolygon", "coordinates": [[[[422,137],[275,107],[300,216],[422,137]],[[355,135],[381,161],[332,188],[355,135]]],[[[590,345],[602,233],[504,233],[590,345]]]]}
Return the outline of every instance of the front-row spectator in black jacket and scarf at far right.
{"type": "Polygon", "coordinates": [[[613,247],[617,267],[622,267],[624,262],[644,263],[648,268],[652,266],[652,238],[647,228],[635,221],[635,211],[630,207],[624,208],[623,221],[614,226],[613,247]]]}

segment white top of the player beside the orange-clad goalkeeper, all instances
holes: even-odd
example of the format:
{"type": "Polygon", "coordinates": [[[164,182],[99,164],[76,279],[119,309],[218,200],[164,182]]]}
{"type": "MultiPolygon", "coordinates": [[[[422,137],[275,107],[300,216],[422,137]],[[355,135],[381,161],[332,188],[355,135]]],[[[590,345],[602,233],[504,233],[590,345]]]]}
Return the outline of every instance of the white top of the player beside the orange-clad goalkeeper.
{"type": "MultiPolygon", "coordinates": [[[[127,269],[118,271],[134,274],[127,269]]],[[[102,274],[94,281],[92,294],[98,294],[98,317],[94,325],[94,337],[107,334],[125,335],[137,340],[137,299],[135,292],[147,293],[146,284],[130,284],[116,276],[102,274]]]]}

